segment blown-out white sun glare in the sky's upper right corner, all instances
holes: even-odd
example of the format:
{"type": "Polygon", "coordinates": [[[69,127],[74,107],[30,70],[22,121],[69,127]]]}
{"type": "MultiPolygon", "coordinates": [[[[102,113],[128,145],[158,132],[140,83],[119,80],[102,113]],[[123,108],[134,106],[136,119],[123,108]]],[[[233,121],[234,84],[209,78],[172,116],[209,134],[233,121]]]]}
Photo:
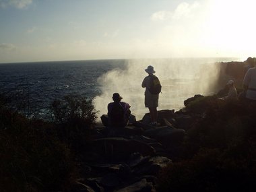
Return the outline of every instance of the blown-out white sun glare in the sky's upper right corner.
{"type": "Polygon", "coordinates": [[[212,0],[208,37],[211,44],[230,55],[255,54],[256,1],[212,0]]]}

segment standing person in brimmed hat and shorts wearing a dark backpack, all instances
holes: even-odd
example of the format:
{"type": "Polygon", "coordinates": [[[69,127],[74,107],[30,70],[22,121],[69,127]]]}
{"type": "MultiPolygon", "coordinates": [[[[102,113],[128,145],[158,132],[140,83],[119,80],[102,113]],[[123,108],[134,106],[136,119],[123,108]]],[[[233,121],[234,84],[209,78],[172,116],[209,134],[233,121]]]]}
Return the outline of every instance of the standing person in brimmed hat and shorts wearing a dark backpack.
{"type": "Polygon", "coordinates": [[[150,110],[150,124],[156,125],[156,121],[158,119],[158,111],[156,108],[158,107],[158,98],[162,87],[158,77],[156,77],[156,75],[153,75],[154,73],[156,73],[156,71],[154,71],[154,67],[149,65],[148,68],[145,69],[145,71],[148,73],[148,76],[143,79],[143,82],[141,84],[142,88],[146,88],[145,106],[148,107],[148,109],[150,110]]]}

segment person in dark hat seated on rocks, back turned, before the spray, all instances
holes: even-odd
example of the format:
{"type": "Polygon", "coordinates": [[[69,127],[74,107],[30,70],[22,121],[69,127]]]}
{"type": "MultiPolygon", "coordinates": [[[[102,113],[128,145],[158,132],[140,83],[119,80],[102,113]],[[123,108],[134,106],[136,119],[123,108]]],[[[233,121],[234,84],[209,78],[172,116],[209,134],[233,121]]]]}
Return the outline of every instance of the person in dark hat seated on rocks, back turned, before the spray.
{"type": "Polygon", "coordinates": [[[108,125],[110,127],[125,127],[129,124],[131,115],[130,105],[121,102],[123,99],[118,93],[113,94],[113,101],[108,104],[108,125]]]}

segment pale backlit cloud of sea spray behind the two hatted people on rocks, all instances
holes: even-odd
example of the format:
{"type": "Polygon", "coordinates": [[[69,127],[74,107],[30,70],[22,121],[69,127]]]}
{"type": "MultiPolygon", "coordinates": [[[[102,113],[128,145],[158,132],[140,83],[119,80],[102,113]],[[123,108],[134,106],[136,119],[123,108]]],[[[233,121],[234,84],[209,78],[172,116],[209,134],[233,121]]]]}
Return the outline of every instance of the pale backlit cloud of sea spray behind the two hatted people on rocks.
{"type": "MultiPolygon", "coordinates": [[[[125,69],[115,68],[98,78],[102,94],[94,98],[98,117],[107,113],[107,104],[118,92],[123,101],[131,104],[131,112],[141,119],[148,108],[144,106],[144,91],[141,82],[148,73],[148,65],[154,66],[162,84],[159,98],[161,109],[183,108],[183,101],[194,94],[213,94],[219,77],[220,65],[216,59],[133,59],[127,60],[125,69]]],[[[98,119],[99,120],[99,119],[98,119]]]]}

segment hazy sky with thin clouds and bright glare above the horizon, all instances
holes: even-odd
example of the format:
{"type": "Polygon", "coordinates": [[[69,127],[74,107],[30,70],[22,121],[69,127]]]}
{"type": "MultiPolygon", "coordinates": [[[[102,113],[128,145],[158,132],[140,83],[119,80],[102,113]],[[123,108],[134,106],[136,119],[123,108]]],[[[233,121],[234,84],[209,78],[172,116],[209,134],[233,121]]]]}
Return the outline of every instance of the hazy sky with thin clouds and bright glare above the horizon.
{"type": "Polygon", "coordinates": [[[255,57],[255,0],[0,0],[0,63],[255,57]]]}

